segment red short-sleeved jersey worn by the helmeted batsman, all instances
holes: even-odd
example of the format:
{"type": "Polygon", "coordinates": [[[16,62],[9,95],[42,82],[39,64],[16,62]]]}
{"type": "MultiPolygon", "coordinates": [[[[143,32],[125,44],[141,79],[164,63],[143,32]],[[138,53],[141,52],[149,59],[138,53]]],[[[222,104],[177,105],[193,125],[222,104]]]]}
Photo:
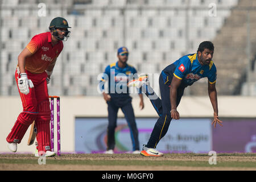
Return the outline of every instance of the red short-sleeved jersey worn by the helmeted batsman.
{"type": "Polygon", "coordinates": [[[33,55],[26,58],[25,69],[31,73],[43,73],[59,56],[63,42],[59,40],[55,46],[52,46],[51,32],[45,32],[35,35],[26,47],[33,55]]]}

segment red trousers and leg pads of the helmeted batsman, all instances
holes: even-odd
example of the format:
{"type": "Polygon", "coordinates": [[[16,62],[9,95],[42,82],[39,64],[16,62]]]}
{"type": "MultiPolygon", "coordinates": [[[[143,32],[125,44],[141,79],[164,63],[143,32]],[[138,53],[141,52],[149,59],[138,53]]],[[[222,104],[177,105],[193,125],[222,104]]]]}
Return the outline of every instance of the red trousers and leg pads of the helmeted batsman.
{"type": "MultiPolygon", "coordinates": [[[[27,95],[20,93],[23,111],[19,114],[11,133],[6,138],[9,143],[20,143],[28,127],[35,121],[37,130],[36,139],[38,140],[38,151],[51,150],[51,137],[49,122],[51,119],[51,110],[49,108],[47,73],[31,73],[26,71],[28,79],[30,79],[34,88],[30,88],[27,95]]],[[[16,69],[15,80],[18,86],[18,78],[20,77],[19,69],[16,69]]]]}

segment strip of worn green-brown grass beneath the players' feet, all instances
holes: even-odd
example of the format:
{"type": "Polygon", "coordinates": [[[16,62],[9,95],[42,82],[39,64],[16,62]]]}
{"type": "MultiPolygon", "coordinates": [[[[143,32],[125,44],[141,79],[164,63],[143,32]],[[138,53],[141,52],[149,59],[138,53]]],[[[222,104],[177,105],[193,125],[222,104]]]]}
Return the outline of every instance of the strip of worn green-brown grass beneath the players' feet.
{"type": "MultiPolygon", "coordinates": [[[[144,157],[134,154],[64,154],[46,158],[46,164],[86,166],[181,166],[256,168],[256,154],[217,154],[217,164],[208,163],[207,154],[165,154],[163,157],[144,157]]],[[[38,164],[33,155],[0,155],[0,164],[38,164]]]]}

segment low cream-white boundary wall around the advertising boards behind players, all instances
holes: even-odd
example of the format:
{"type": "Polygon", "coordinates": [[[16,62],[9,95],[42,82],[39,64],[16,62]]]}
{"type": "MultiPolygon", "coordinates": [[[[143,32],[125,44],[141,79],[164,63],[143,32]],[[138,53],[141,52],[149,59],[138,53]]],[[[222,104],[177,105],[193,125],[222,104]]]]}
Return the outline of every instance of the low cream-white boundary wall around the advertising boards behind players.
{"type": "MultiPolygon", "coordinates": [[[[157,114],[150,101],[144,96],[144,109],[139,110],[139,98],[133,96],[135,116],[138,118],[156,118],[157,114]]],[[[256,97],[220,96],[218,109],[220,118],[256,118],[256,97]]],[[[213,110],[209,97],[183,97],[178,107],[181,118],[210,118],[213,110]]],[[[0,97],[0,153],[10,152],[7,148],[6,137],[13,127],[16,118],[22,111],[22,104],[18,96],[0,97]]],[[[55,103],[56,111],[56,103],[55,103]]],[[[61,97],[61,151],[75,152],[75,119],[81,118],[106,118],[107,105],[102,97],[61,97]]],[[[123,117],[122,111],[118,112],[123,117]]],[[[225,123],[224,123],[225,125],[225,123]]],[[[195,126],[196,127],[196,126],[195,126]]],[[[56,129],[56,114],[55,114],[56,129]]],[[[30,129],[24,135],[22,143],[18,145],[18,152],[33,153],[35,146],[27,146],[30,129]]],[[[55,130],[56,131],[56,130],[55,130]]],[[[55,133],[55,137],[56,137],[55,133]]],[[[56,143],[56,138],[55,138],[56,143]]],[[[55,146],[56,148],[56,146],[55,146]]]]}

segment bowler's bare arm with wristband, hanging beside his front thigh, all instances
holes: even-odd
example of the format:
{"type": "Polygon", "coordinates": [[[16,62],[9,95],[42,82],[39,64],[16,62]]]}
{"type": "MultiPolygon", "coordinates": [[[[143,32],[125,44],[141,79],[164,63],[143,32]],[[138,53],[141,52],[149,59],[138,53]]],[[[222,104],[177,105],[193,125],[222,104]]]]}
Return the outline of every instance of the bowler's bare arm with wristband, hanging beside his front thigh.
{"type": "Polygon", "coordinates": [[[177,88],[181,84],[181,79],[174,76],[170,85],[170,102],[171,102],[171,117],[179,119],[180,114],[177,111],[177,88]]]}

